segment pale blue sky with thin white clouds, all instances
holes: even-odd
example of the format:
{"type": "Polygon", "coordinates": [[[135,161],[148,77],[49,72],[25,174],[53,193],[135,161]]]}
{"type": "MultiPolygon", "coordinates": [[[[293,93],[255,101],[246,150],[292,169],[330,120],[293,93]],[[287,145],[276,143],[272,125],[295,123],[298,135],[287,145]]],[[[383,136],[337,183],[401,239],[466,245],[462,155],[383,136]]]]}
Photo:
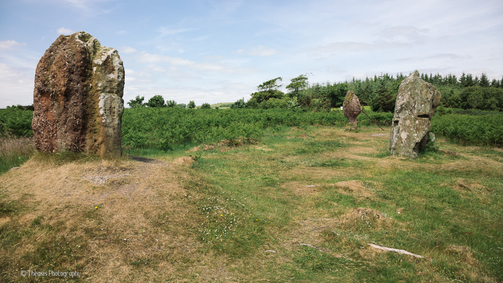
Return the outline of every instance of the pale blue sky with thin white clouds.
{"type": "MultiPolygon", "coordinates": [[[[381,73],[503,76],[503,2],[0,1],[0,108],[33,103],[40,57],[85,31],[124,62],[124,101],[249,99],[276,77],[330,83],[381,73]]],[[[284,87],[283,87],[284,88],[284,87]]]]}

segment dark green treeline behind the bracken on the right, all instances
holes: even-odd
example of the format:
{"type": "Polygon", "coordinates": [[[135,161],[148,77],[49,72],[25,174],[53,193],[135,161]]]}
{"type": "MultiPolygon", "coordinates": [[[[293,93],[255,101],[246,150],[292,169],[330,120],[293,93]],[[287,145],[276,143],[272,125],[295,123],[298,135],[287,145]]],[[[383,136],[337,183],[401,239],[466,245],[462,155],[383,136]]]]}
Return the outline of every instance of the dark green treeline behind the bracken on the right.
{"type": "MultiPolygon", "coordinates": [[[[244,102],[240,99],[234,108],[309,108],[330,109],[342,106],[349,90],[355,92],[362,105],[369,105],[373,111],[393,112],[403,74],[396,76],[381,74],[365,80],[331,84],[308,83],[307,75],[300,75],[286,86],[287,93],[279,91],[282,78],[276,78],[257,87],[258,92],[244,102]]],[[[460,78],[449,74],[421,74],[421,78],[433,84],[442,94],[441,105],[449,108],[479,109],[487,111],[503,110],[503,78],[489,81],[485,73],[479,77],[463,73],[460,78]]]]}

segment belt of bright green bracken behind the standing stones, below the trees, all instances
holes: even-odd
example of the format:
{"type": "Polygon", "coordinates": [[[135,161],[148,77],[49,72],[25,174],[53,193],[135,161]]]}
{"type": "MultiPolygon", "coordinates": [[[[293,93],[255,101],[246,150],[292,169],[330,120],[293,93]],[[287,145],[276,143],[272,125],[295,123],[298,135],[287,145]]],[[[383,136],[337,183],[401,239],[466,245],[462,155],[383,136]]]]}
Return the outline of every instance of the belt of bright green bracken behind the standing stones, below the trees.
{"type": "MultiPolygon", "coordinates": [[[[470,145],[503,144],[503,114],[475,110],[440,108],[432,119],[432,131],[455,143],[470,145]],[[459,112],[469,114],[455,114],[459,112]],[[490,113],[490,114],[486,114],[490,113]]],[[[389,126],[391,112],[366,110],[381,126],[389,126]]],[[[0,136],[33,136],[33,111],[0,109],[0,136]]],[[[363,113],[359,125],[373,125],[363,113]]],[[[306,109],[189,109],[180,107],[126,108],[122,119],[122,145],[125,148],[172,149],[186,144],[214,143],[237,136],[258,138],[267,127],[276,125],[344,126],[342,111],[306,109]]]]}

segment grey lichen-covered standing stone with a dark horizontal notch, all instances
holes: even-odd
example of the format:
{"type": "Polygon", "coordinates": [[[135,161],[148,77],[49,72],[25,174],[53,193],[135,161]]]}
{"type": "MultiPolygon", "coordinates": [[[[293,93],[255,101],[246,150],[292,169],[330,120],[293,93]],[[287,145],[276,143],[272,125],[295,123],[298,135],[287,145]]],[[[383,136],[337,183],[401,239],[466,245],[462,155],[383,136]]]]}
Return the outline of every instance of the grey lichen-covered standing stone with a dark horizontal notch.
{"type": "Polygon", "coordinates": [[[440,92],[423,81],[417,70],[405,78],[396,97],[389,152],[417,157],[417,152],[428,142],[430,121],[439,104],[440,92]]]}

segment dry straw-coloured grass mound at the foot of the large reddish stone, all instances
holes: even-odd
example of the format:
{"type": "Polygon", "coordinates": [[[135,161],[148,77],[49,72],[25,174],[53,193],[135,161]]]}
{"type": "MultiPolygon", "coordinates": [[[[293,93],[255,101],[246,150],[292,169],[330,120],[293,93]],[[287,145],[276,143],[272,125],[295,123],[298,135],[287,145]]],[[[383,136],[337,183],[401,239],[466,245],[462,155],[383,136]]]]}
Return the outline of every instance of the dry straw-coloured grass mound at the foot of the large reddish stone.
{"type": "Polygon", "coordinates": [[[23,255],[35,252],[40,243],[66,239],[85,249],[77,251],[81,254],[73,266],[82,266],[77,271],[89,282],[186,281],[177,277],[185,274],[179,262],[201,249],[191,236],[188,215],[194,208],[185,201],[182,185],[189,160],[27,162],[1,176],[0,183],[8,189],[5,201],[29,209],[1,218],[0,225],[30,227],[41,218],[43,226],[58,229],[36,231],[0,256],[29,266],[23,255]],[[142,266],[142,259],[149,262],[142,266]]]}

